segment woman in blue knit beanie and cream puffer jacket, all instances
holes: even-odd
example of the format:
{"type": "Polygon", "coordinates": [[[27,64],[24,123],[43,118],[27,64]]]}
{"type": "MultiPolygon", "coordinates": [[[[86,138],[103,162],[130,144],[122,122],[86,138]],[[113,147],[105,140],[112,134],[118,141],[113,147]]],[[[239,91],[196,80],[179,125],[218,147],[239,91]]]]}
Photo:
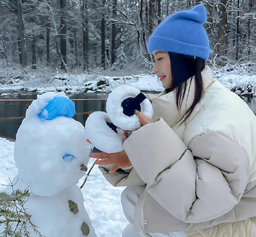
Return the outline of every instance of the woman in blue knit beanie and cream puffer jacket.
{"type": "Polygon", "coordinates": [[[123,152],[91,154],[122,194],[123,237],[256,236],[256,119],[213,80],[203,5],[165,20],[149,40],[164,92],[123,152]]]}

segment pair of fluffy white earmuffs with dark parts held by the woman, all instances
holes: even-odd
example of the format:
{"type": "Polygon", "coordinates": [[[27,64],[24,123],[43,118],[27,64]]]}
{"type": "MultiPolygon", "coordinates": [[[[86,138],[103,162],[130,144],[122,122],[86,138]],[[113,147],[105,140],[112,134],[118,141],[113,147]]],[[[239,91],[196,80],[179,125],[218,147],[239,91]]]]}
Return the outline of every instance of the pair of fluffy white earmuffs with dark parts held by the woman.
{"type": "Polygon", "coordinates": [[[138,117],[134,114],[136,108],[141,110],[146,119],[151,119],[153,108],[141,90],[131,85],[118,86],[107,98],[107,113],[97,111],[87,119],[85,124],[87,139],[102,152],[123,151],[125,140],[123,130],[133,131],[141,126],[138,117]]]}

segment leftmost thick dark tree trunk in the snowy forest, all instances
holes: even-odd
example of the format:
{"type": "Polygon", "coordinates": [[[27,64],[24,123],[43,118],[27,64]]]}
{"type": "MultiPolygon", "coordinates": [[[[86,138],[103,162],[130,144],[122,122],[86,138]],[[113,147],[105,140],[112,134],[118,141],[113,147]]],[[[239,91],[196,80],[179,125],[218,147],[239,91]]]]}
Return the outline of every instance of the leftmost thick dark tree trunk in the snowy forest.
{"type": "Polygon", "coordinates": [[[18,32],[19,32],[19,62],[22,67],[27,66],[27,53],[26,53],[26,42],[24,35],[24,23],[22,19],[22,2],[17,0],[17,12],[18,12],[18,32]]]}

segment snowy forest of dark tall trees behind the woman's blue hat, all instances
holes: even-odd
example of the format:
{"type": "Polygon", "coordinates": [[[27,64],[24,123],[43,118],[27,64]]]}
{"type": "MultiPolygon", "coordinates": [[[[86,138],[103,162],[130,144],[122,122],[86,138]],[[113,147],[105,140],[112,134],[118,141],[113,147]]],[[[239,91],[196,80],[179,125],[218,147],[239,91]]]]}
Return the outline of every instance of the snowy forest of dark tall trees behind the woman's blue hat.
{"type": "Polygon", "coordinates": [[[4,0],[0,1],[1,65],[40,65],[89,72],[146,69],[146,45],[169,14],[203,4],[211,42],[208,63],[256,60],[254,0],[4,0]]]}

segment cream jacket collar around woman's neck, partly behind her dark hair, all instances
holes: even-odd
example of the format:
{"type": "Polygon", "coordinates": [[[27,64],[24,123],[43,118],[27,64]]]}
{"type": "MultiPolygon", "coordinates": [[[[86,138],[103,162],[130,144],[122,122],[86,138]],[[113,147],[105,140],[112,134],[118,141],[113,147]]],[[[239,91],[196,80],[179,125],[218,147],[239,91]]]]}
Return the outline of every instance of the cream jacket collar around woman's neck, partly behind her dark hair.
{"type": "MultiPolygon", "coordinates": [[[[208,65],[206,65],[202,71],[202,78],[204,93],[214,83],[213,72],[208,65]]],[[[177,110],[176,106],[175,91],[166,93],[164,90],[159,96],[149,96],[149,100],[151,101],[154,110],[152,121],[156,121],[161,117],[172,127],[182,119],[182,116],[184,116],[187,109],[192,105],[195,96],[195,80],[193,79],[194,77],[187,80],[187,90],[180,112],[177,110]]]]}

